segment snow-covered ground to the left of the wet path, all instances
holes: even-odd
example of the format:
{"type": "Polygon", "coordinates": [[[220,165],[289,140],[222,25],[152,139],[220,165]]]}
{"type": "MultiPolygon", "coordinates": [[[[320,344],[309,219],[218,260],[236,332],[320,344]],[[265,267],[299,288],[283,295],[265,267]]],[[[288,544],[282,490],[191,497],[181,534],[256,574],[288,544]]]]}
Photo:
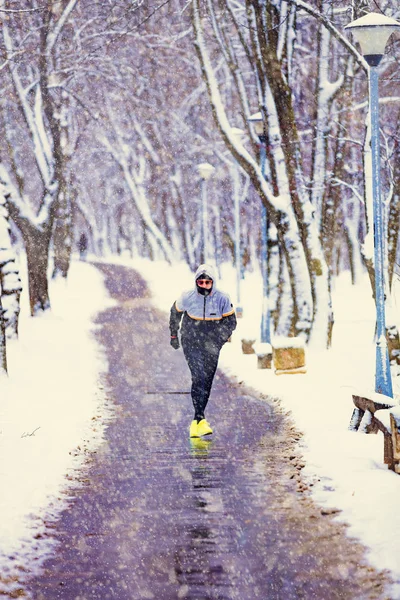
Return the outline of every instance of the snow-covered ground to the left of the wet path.
{"type": "Polygon", "coordinates": [[[51,550],[42,519],[65,508],[111,416],[100,381],[107,363],[93,335],[96,313],[111,305],[103,278],[74,263],[67,282],[50,285],[52,310],[37,318],[23,292],[19,340],[8,343],[9,376],[0,379],[0,595],[51,550]]]}

